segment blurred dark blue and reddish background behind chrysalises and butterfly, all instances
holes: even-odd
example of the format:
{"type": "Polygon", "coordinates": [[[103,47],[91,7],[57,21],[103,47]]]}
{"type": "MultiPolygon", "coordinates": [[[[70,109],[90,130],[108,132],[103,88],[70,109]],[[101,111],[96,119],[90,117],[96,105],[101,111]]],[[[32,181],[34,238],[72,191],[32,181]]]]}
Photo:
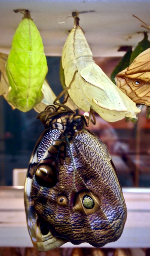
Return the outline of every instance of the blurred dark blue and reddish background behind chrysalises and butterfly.
{"type": "MultiPolygon", "coordinates": [[[[110,77],[120,57],[95,58],[95,62],[110,77]]],[[[47,80],[58,96],[62,91],[59,79],[60,57],[47,57],[47,80]]],[[[83,114],[82,111],[80,113],[83,114]]],[[[96,115],[93,131],[107,145],[123,187],[150,187],[150,119],[146,106],[136,123],[125,119],[109,123],[96,115]]],[[[0,96],[0,185],[13,185],[13,170],[28,168],[30,156],[44,126],[36,119],[37,112],[12,110],[0,96]]],[[[26,170],[25,170],[26,172],[26,170]]],[[[22,184],[20,184],[22,185],[22,184]]]]}

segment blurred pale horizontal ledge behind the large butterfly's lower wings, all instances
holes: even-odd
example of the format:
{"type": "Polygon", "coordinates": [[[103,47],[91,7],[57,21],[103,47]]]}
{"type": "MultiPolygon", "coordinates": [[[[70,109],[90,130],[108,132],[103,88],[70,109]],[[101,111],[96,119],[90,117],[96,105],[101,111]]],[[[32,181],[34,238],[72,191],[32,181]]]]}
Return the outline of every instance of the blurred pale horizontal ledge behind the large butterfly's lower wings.
{"type": "MultiPolygon", "coordinates": [[[[150,189],[124,188],[128,217],[124,231],[107,248],[146,248],[150,241],[150,189]]],[[[24,212],[23,188],[0,187],[0,246],[32,247],[24,212]]],[[[75,247],[66,243],[63,247],[75,247]]],[[[78,247],[91,247],[82,243],[78,247]]]]}

